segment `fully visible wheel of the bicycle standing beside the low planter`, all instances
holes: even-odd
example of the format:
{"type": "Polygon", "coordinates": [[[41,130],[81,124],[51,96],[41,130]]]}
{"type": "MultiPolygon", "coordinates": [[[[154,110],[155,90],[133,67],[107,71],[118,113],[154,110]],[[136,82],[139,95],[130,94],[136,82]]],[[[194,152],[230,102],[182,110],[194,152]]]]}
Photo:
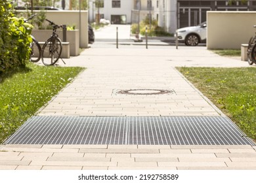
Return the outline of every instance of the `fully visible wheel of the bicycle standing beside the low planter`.
{"type": "Polygon", "coordinates": [[[62,42],[58,37],[52,37],[43,44],[42,61],[46,66],[54,65],[60,58],[62,42]]]}

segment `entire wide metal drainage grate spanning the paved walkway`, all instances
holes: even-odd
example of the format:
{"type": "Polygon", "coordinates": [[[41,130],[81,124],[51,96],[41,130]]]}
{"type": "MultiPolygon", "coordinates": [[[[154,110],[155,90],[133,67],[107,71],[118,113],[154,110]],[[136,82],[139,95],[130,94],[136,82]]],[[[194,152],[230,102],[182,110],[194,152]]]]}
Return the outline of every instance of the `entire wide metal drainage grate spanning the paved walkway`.
{"type": "Polygon", "coordinates": [[[223,116],[33,116],[5,144],[255,145],[223,116]]]}

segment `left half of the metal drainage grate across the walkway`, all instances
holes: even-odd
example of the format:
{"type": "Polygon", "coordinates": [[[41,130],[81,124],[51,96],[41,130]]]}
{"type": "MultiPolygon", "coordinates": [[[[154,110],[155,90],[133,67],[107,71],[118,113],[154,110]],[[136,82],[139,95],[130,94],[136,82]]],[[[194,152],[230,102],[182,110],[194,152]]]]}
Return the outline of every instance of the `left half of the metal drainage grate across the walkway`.
{"type": "Polygon", "coordinates": [[[125,144],[125,118],[34,116],[5,144],[125,144]]]}

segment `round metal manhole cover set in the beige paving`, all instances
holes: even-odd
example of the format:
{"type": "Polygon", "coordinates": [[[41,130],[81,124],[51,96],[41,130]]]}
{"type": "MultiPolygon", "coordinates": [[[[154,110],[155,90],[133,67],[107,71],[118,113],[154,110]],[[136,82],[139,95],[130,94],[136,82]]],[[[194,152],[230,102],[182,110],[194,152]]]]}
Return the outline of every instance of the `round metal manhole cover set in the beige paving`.
{"type": "Polygon", "coordinates": [[[155,89],[133,89],[133,90],[121,90],[117,93],[129,94],[129,95],[159,95],[165,93],[173,93],[169,90],[155,90],[155,89]]]}

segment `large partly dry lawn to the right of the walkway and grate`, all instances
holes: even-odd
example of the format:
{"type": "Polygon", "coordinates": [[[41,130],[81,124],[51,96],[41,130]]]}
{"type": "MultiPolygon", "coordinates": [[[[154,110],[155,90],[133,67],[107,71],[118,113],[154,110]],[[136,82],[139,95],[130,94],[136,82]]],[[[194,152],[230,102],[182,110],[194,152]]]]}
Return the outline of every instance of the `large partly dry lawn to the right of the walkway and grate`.
{"type": "Polygon", "coordinates": [[[179,67],[226,116],[256,139],[256,68],[179,67]]]}

